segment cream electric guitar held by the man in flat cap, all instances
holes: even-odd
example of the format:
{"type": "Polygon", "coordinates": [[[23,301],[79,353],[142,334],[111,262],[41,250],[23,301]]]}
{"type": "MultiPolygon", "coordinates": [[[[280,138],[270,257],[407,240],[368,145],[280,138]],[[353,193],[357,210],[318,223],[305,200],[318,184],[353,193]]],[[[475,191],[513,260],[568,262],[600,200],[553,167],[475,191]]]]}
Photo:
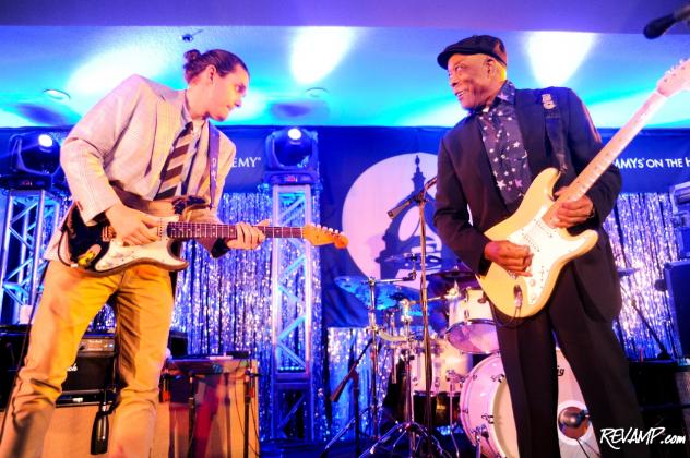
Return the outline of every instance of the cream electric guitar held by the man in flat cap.
{"type": "Polygon", "coordinates": [[[566,263],[594,246],[597,233],[593,230],[571,236],[568,230],[554,227],[558,205],[582,197],[667,98],[690,88],[689,81],[690,60],[685,60],[658,81],[656,91],[568,186],[567,192],[554,200],[552,190],[559,172],[554,168],[546,169],[536,177],[518,210],[486,231],[491,240],[509,240],[530,246],[534,255],[531,277],[515,276],[496,263],[486,275],[477,276],[484,292],[502,313],[514,317],[537,313],[551,296],[566,263]]]}

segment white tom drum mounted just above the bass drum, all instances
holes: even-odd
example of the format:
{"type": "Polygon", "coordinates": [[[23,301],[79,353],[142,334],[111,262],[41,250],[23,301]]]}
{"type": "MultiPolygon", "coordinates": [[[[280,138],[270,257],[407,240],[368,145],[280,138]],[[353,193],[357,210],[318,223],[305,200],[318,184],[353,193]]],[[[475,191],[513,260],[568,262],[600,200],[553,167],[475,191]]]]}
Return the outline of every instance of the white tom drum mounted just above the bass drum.
{"type": "Polygon", "coordinates": [[[498,336],[491,305],[484,291],[465,288],[456,298],[449,299],[445,338],[456,349],[471,354],[498,351],[498,336]]]}

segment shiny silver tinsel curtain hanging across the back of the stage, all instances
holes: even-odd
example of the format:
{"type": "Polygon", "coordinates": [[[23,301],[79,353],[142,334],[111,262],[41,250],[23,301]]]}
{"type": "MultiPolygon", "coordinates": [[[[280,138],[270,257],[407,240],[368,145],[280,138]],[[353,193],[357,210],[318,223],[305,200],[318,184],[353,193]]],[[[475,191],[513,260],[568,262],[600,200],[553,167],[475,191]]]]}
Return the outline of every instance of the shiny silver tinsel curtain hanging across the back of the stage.
{"type": "MultiPolygon", "coordinates": [[[[255,222],[269,218],[272,202],[267,193],[225,194],[218,206],[224,221],[255,222]]],[[[318,208],[318,205],[314,205],[318,208]]],[[[614,213],[605,222],[609,233],[616,264],[627,269],[621,278],[623,308],[614,328],[631,360],[655,358],[659,348],[645,326],[642,317],[657,335],[662,345],[671,354],[680,357],[677,323],[670,309],[668,293],[654,288],[663,279],[663,266],[677,260],[676,239],[670,222],[670,197],[668,194],[621,194],[614,213]],[[635,311],[639,309],[640,313],[635,311]]],[[[213,260],[195,243],[188,243],[183,253],[190,267],[178,277],[178,291],[174,328],[189,334],[190,353],[222,354],[228,350],[249,350],[259,361],[260,372],[270,374],[271,364],[271,244],[248,252],[234,250],[213,260]]],[[[318,260],[318,257],[317,257],[318,260]]],[[[318,264],[318,261],[316,262],[318,264]]],[[[319,272],[314,265],[314,272],[319,272]]],[[[332,285],[325,285],[332,288],[332,285]]],[[[348,387],[337,403],[325,406],[323,387],[333,393],[337,383],[347,373],[348,361],[359,354],[368,341],[364,328],[328,330],[328,379],[323,377],[324,361],[321,341],[321,304],[314,304],[314,402],[318,421],[314,436],[330,436],[343,427],[352,418],[352,388],[348,387]],[[325,411],[329,418],[325,418],[325,411]]],[[[338,306],[324,304],[323,306],[338,306]]],[[[100,323],[112,323],[109,312],[100,323]]],[[[390,358],[381,357],[378,381],[378,398],[382,399],[391,371],[390,358]]],[[[360,364],[360,406],[369,406],[371,364],[365,357],[360,364]]],[[[261,438],[270,431],[270,415],[274,402],[271,381],[260,378],[260,427],[261,438]]],[[[362,427],[367,425],[365,419],[362,427]]],[[[352,432],[349,437],[352,437],[352,432]]]]}

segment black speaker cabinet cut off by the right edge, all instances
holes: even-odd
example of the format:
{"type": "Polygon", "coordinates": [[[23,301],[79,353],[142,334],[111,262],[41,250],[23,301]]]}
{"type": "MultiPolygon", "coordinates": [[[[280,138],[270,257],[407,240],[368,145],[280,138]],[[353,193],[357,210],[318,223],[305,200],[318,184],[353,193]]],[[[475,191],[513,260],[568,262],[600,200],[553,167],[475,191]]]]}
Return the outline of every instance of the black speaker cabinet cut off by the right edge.
{"type": "Polygon", "coordinates": [[[666,263],[664,278],[670,306],[676,314],[680,354],[690,357],[690,261],[666,263]]]}

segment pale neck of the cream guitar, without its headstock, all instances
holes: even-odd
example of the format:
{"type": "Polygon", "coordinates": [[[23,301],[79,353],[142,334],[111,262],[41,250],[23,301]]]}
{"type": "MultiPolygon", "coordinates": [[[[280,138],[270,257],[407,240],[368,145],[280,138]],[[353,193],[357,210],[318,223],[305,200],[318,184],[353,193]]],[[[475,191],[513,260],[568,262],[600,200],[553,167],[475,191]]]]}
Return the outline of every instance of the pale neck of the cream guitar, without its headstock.
{"type": "Polygon", "coordinates": [[[584,168],[580,176],[568,186],[568,191],[558,197],[557,202],[576,201],[582,197],[596,180],[606,172],[616,158],[628,146],[632,138],[647,123],[650,118],[664,105],[667,97],[653,92],[644,105],[633,114],[616,135],[602,148],[598,155],[584,168]]]}

